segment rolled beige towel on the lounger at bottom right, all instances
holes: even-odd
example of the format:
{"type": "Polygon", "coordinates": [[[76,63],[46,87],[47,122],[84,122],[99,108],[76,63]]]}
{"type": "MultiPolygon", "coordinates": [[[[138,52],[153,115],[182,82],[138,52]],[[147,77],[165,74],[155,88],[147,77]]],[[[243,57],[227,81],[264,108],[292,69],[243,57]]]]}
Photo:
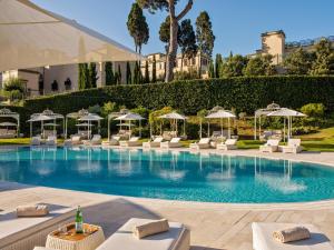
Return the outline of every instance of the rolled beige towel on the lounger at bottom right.
{"type": "Polygon", "coordinates": [[[311,233],[308,229],[305,227],[289,228],[281,231],[275,231],[273,233],[273,238],[281,243],[305,240],[308,239],[310,237],[311,233]]]}

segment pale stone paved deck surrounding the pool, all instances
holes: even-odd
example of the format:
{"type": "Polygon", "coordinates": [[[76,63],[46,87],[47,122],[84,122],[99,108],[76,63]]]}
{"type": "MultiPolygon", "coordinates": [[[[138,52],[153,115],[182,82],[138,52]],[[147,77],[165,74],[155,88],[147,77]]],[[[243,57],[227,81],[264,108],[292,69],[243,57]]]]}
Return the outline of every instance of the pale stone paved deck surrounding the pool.
{"type": "MultiPolygon", "coordinates": [[[[212,152],[214,150],[203,151],[212,152]]],[[[255,150],[224,153],[334,166],[334,153],[264,154],[255,150]]],[[[284,204],[205,203],[116,197],[0,181],[0,214],[19,204],[39,202],[84,206],[85,220],[102,226],[106,237],[132,217],[179,221],[191,230],[191,250],[250,250],[250,224],[259,221],[313,223],[334,241],[334,200],[284,204]]]]}

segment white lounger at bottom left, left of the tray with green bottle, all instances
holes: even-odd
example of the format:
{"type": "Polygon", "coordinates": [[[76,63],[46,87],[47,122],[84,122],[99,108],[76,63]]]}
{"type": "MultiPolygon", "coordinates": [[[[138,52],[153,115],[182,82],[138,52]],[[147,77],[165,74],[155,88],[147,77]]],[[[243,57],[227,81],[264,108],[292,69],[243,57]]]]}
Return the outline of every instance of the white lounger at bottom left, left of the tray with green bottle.
{"type": "Polygon", "coordinates": [[[72,221],[73,208],[49,206],[46,217],[17,218],[16,212],[0,214],[0,249],[32,250],[36,246],[45,246],[49,232],[59,224],[72,221]]]}

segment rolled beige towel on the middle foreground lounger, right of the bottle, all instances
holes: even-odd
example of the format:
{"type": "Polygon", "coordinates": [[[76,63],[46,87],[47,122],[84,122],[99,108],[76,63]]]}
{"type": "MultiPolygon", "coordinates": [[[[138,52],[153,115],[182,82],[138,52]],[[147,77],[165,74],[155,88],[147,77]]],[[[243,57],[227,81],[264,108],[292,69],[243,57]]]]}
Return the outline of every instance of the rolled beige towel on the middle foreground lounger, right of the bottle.
{"type": "Polygon", "coordinates": [[[161,219],[161,220],[148,222],[140,226],[135,226],[132,232],[137,239],[141,239],[148,236],[166,232],[168,230],[169,230],[168,220],[161,219]]]}

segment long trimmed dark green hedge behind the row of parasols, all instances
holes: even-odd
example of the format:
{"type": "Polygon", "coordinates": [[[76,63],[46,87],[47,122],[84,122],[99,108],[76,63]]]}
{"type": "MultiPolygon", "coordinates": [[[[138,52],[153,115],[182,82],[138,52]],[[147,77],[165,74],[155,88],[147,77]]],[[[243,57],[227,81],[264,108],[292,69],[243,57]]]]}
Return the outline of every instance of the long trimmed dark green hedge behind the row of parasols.
{"type": "Polygon", "coordinates": [[[287,108],[323,103],[328,110],[334,110],[334,77],[243,77],[114,86],[30,99],[24,108],[30,112],[49,108],[65,114],[107,101],[128,108],[160,109],[170,106],[187,114],[215,106],[253,114],[254,110],[273,101],[287,108]]]}

